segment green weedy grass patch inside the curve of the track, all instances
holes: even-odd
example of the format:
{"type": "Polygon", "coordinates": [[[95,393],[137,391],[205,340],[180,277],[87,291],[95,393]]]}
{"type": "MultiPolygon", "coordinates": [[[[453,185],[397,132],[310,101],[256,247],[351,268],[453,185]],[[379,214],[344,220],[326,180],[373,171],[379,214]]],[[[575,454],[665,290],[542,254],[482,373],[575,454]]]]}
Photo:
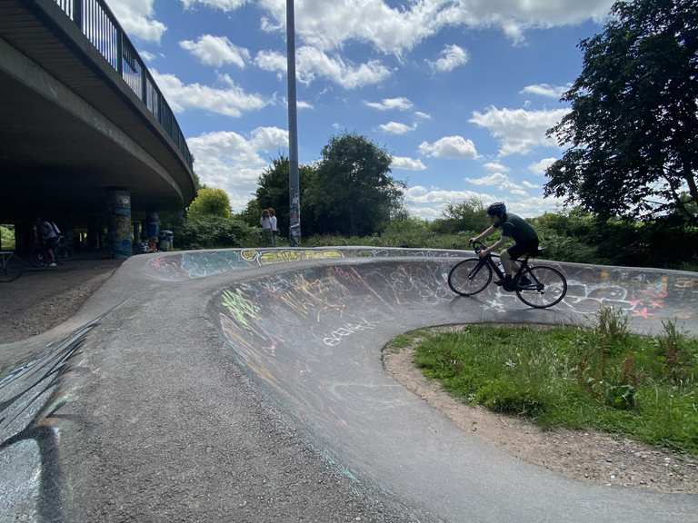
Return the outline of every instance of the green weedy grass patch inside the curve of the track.
{"type": "Polygon", "coordinates": [[[468,403],[698,455],[698,340],[672,322],[656,337],[612,309],[593,329],[473,325],[424,337],[414,360],[468,403]]]}

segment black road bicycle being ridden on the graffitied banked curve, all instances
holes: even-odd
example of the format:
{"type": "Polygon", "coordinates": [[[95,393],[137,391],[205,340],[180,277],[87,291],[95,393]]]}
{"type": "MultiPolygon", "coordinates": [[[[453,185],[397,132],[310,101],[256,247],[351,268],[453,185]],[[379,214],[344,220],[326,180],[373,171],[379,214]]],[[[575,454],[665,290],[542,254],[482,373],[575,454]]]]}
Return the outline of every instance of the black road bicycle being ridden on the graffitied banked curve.
{"type": "MultiPolygon", "coordinates": [[[[476,254],[485,247],[482,242],[474,242],[476,254]]],[[[541,254],[538,251],[535,255],[541,254]]],[[[519,300],[535,309],[547,309],[563,301],[567,294],[567,280],[562,272],[547,265],[529,265],[527,255],[520,263],[519,271],[514,276],[512,291],[519,300]]],[[[504,282],[504,272],[499,268],[492,254],[484,258],[468,258],[458,263],[448,275],[448,286],[461,296],[474,296],[484,291],[492,281],[493,273],[504,282]]],[[[502,283],[504,285],[504,283],[502,283]]]]}

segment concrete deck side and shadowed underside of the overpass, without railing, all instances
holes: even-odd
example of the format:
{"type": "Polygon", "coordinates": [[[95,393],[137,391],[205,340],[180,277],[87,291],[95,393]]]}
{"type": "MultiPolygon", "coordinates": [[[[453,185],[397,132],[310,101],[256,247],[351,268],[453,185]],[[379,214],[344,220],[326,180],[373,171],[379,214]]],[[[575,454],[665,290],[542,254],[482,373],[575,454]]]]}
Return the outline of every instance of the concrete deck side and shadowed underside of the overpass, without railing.
{"type": "Polygon", "coordinates": [[[145,104],[55,4],[0,0],[0,222],[179,211],[191,168],[145,104]]]}

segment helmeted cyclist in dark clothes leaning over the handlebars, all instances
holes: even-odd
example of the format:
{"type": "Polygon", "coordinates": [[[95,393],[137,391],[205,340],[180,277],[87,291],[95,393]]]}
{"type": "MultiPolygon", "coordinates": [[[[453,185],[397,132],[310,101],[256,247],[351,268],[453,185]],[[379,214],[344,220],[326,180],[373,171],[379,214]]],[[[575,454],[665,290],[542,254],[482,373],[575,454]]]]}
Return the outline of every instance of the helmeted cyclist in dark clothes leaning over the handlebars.
{"type": "MultiPolygon", "coordinates": [[[[498,285],[504,286],[505,291],[514,291],[514,277],[518,271],[516,260],[526,254],[534,255],[538,252],[538,234],[531,224],[523,220],[521,216],[517,216],[513,212],[506,212],[506,205],[503,202],[490,205],[487,209],[487,216],[492,221],[492,226],[478,236],[471,238],[470,241],[482,242],[484,238],[497,229],[502,230],[502,239],[480,252],[480,257],[484,258],[499,249],[504,243],[514,240],[514,245],[500,253],[505,278],[504,281],[497,281],[498,285]]],[[[525,276],[520,283],[523,286],[531,285],[531,281],[525,276]]]]}

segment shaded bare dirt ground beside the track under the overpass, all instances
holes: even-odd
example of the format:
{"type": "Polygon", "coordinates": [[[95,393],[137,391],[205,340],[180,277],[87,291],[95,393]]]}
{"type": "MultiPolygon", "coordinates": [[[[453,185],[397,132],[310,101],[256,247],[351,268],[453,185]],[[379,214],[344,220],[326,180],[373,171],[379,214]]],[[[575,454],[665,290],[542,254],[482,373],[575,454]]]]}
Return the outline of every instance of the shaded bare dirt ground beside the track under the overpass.
{"type": "Polygon", "coordinates": [[[0,283],[0,344],[25,340],[64,322],[120,265],[112,260],[71,261],[0,283]]]}

